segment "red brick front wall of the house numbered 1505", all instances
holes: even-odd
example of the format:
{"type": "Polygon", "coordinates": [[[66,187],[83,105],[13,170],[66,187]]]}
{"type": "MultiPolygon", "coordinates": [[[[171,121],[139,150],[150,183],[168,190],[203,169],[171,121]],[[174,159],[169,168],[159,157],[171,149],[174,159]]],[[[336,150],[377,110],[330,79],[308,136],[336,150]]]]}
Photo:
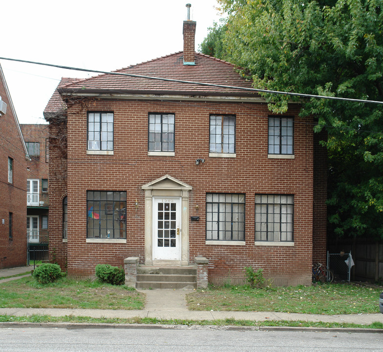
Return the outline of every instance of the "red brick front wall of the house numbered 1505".
{"type": "MultiPolygon", "coordinates": [[[[297,116],[292,106],[289,115],[297,116]]],[[[89,110],[114,111],[114,155],[86,154],[86,111],[68,110],[68,274],[94,275],[99,263],[122,265],[129,256],[144,261],[144,193],[141,186],[169,174],[193,187],[190,193],[189,248],[209,259],[209,279],[219,283],[243,280],[243,267],[262,267],[279,285],[311,282],[313,234],[313,132],[295,118],[295,159],[267,158],[266,104],[165,103],[99,101],[89,110]],[[148,156],[148,112],[175,113],[175,156],[148,156]],[[209,114],[236,115],[236,158],[209,157],[209,114]],[[195,159],[205,163],[195,165],[195,159]],[[86,243],[86,190],[127,191],[127,243],[86,243]],[[246,245],[205,244],[206,193],[246,194],[246,245]],[[294,194],[294,246],[255,246],[255,194],[294,194]],[[137,211],[134,200],[139,200],[137,211]],[[195,210],[198,205],[199,209],[195,210]]],[[[309,125],[310,126],[310,125],[309,125]]],[[[51,151],[51,160],[53,158],[51,151]]],[[[52,167],[52,161],[51,161],[52,167]]],[[[54,176],[51,171],[50,176],[54,176]]],[[[64,183],[63,183],[64,184],[64,183]]],[[[50,213],[61,220],[64,188],[51,200],[50,213]],[[54,202],[54,204],[53,204],[54,202]],[[53,208],[55,207],[55,208],[53,208]]],[[[52,190],[51,182],[51,197],[52,190]]],[[[60,221],[51,226],[57,230],[60,221]]],[[[57,234],[61,231],[56,231],[57,234]]],[[[51,248],[63,249],[61,237],[51,248]]],[[[64,256],[64,254],[63,254],[64,256]]],[[[62,257],[61,257],[62,258],[62,257]]],[[[60,262],[62,264],[62,261],[60,262]]]]}

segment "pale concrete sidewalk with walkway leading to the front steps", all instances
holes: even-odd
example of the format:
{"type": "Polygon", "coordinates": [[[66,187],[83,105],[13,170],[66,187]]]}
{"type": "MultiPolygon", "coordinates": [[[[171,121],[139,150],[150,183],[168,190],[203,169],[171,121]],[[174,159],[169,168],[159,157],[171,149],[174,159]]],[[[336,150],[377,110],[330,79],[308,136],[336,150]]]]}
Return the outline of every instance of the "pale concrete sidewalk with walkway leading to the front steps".
{"type": "MultiPolygon", "coordinates": [[[[0,277],[31,271],[30,267],[0,270],[0,277]],[[6,271],[6,274],[4,274],[6,271]]],[[[30,274],[28,274],[30,275],[30,274]]],[[[18,279],[20,278],[12,278],[18,279]]],[[[0,280],[0,285],[6,280],[0,280]]],[[[62,309],[62,308],[0,308],[0,315],[29,316],[33,314],[51,316],[88,316],[92,318],[134,318],[150,317],[157,319],[180,320],[253,320],[253,321],[306,321],[306,322],[335,322],[369,325],[374,322],[383,323],[383,314],[342,314],[316,315],[279,312],[244,312],[244,311],[191,311],[188,310],[185,295],[192,290],[153,289],[138,290],[146,295],[145,309],[142,310],[112,310],[112,309],[62,309]]]]}

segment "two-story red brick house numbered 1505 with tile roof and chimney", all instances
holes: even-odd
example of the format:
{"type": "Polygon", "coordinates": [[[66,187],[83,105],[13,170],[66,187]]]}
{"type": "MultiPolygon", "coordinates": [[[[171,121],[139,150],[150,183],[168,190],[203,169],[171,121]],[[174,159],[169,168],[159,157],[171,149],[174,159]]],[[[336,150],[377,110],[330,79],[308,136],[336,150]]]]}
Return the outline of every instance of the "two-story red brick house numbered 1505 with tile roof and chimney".
{"type": "Polygon", "coordinates": [[[186,266],[203,256],[214,283],[242,282],[251,265],[277,285],[308,285],[326,251],[313,119],[299,118],[298,104],[272,114],[257,93],[233,88],[252,85],[194,52],[195,22],[183,29],[184,51],[63,79],[53,94],[51,257],[68,275],[92,276],[127,257],[186,266]]]}

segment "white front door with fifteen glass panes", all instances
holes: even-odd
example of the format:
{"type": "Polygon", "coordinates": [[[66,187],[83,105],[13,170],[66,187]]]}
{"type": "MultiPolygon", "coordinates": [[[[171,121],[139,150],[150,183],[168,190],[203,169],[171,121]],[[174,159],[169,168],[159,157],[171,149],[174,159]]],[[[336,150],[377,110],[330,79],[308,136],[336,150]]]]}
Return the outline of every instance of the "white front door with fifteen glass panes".
{"type": "Polygon", "coordinates": [[[180,260],[181,199],[153,198],[153,259],[180,260]]]}

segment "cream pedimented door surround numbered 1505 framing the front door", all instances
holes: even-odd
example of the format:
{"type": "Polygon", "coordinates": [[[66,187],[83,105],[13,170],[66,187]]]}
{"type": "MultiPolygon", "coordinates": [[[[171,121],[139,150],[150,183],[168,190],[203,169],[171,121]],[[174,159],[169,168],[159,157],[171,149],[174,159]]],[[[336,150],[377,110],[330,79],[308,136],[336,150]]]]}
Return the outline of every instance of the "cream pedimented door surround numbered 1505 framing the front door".
{"type": "Polygon", "coordinates": [[[141,187],[145,191],[145,265],[189,265],[189,191],[192,187],[170,175],[162,176],[141,187]],[[181,199],[180,260],[158,261],[153,259],[153,201],[158,197],[181,199]]]}

